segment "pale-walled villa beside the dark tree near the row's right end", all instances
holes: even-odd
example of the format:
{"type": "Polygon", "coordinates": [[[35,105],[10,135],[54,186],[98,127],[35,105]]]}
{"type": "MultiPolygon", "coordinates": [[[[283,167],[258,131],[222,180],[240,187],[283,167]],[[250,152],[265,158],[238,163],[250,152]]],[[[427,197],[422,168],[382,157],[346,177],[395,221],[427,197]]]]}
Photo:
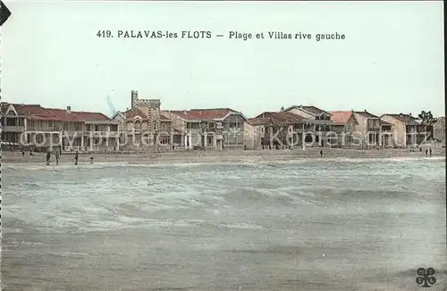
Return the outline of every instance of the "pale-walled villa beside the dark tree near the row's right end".
{"type": "Polygon", "coordinates": [[[392,143],[396,147],[419,146],[429,137],[426,125],[411,114],[383,114],[380,119],[392,124],[392,143]]]}

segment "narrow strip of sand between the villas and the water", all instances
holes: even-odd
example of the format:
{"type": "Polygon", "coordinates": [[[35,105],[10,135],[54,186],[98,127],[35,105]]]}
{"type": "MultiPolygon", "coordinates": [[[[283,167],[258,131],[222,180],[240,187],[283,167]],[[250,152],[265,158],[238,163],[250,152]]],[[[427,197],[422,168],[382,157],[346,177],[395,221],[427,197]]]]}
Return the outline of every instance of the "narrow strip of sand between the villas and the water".
{"type": "MultiPolygon", "coordinates": [[[[299,159],[320,159],[319,148],[308,148],[294,150],[223,150],[223,151],[176,151],[170,153],[132,153],[132,154],[81,154],[79,162],[89,162],[91,156],[95,162],[139,162],[139,163],[164,163],[164,162],[261,162],[261,161],[291,161],[299,159]]],[[[420,157],[426,156],[425,152],[409,152],[403,149],[382,150],[354,150],[324,148],[324,158],[395,158],[395,157],[420,157]]],[[[445,148],[436,148],[432,156],[445,156],[445,148]]],[[[46,154],[30,156],[26,153],[23,157],[21,152],[3,152],[2,162],[45,162],[46,154]]],[[[52,155],[51,161],[55,162],[52,155]]],[[[74,162],[74,154],[63,154],[60,163],[74,162]]]]}

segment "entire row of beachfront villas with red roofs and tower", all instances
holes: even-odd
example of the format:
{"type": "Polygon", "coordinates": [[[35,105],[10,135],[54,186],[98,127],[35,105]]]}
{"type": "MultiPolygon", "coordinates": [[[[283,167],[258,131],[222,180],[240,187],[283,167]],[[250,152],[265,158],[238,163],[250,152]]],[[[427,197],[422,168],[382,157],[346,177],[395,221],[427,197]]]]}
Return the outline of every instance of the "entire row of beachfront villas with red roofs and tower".
{"type": "Polygon", "coordinates": [[[409,147],[433,139],[445,145],[445,119],[427,126],[411,114],[364,111],[327,112],[293,105],[247,118],[230,108],[161,110],[159,99],[140,99],[107,117],[100,112],[1,104],[2,142],[63,151],[168,151],[296,146],[409,147]],[[429,128],[431,127],[431,128],[429,128]],[[432,138],[432,137],[428,137],[432,138]]]}

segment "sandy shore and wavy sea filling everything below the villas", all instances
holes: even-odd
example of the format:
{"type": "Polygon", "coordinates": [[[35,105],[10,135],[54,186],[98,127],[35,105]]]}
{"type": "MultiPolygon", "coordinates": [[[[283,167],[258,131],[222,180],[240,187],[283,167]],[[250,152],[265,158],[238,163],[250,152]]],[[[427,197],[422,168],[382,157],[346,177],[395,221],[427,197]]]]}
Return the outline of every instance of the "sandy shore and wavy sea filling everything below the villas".
{"type": "Polygon", "coordinates": [[[4,290],[443,290],[445,156],[318,152],[4,153],[4,290]]]}

